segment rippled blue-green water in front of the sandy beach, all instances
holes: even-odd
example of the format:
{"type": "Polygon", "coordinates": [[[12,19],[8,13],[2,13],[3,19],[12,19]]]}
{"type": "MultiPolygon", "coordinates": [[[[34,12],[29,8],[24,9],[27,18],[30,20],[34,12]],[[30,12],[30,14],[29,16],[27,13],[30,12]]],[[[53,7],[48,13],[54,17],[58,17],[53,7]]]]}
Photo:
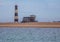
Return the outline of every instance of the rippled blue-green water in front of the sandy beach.
{"type": "Polygon", "coordinates": [[[60,42],[60,28],[1,28],[0,42],[60,42]]]}

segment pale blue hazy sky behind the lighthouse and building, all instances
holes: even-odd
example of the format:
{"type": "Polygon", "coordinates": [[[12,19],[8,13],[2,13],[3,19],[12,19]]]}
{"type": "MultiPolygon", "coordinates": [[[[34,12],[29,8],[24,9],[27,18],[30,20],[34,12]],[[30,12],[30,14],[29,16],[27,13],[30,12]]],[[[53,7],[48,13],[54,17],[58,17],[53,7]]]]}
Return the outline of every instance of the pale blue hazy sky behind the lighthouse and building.
{"type": "Polygon", "coordinates": [[[0,0],[0,22],[14,22],[15,5],[19,22],[30,15],[39,22],[60,21],[60,0],[0,0]]]}

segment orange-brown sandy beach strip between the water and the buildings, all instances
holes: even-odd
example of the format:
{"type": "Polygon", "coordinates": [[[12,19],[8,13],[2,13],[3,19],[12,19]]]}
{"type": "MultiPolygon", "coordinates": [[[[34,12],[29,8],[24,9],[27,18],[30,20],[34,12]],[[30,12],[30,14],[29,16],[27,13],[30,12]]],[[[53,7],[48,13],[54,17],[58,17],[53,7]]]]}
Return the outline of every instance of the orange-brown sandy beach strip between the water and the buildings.
{"type": "Polygon", "coordinates": [[[60,28],[60,22],[0,23],[0,27],[60,28]]]}

